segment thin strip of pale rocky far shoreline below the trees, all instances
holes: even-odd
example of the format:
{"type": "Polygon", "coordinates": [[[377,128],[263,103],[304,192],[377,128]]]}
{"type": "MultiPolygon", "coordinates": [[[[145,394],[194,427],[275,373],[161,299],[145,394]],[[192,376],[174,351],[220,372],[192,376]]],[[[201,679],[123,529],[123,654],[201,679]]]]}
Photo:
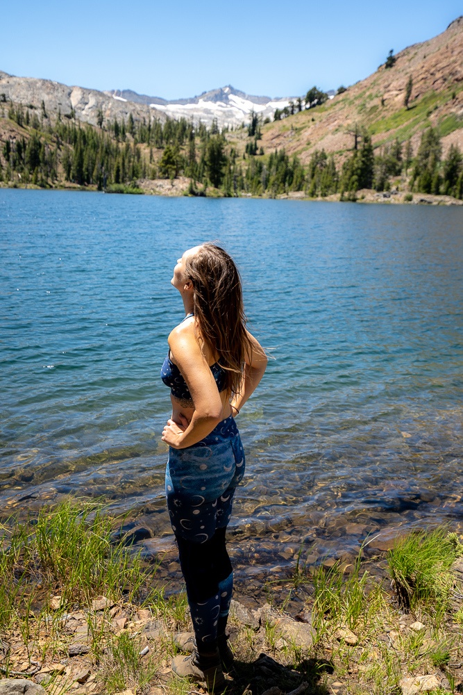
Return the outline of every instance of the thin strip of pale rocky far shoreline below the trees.
{"type": "Polygon", "coordinates": [[[225,196],[218,189],[210,189],[210,193],[206,191],[204,195],[189,195],[188,183],[182,179],[174,179],[174,185],[171,185],[170,179],[144,179],[137,181],[137,188],[130,190],[130,186],[124,186],[126,190],[117,191],[101,191],[96,186],[49,186],[42,188],[33,183],[24,185],[15,183],[13,186],[6,185],[0,181],[1,189],[18,189],[18,190],[67,190],[67,191],[85,191],[85,193],[108,193],[108,195],[154,195],[160,197],[206,197],[206,198],[226,198],[226,199],[253,199],[253,200],[301,200],[304,202],[356,202],[361,204],[383,204],[383,205],[432,205],[432,206],[463,206],[463,200],[455,198],[451,195],[433,195],[431,193],[410,193],[407,191],[381,191],[364,188],[357,190],[354,194],[349,194],[349,199],[342,197],[341,193],[333,193],[326,197],[309,197],[304,191],[289,191],[289,193],[281,193],[275,197],[269,195],[252,195],[251,193],[240,193],[235,196],[225,196]],[[147,186],[146,182],[150,185],[147,186]],[[408,196],[412,199],[408,199],[408,196]]]}

